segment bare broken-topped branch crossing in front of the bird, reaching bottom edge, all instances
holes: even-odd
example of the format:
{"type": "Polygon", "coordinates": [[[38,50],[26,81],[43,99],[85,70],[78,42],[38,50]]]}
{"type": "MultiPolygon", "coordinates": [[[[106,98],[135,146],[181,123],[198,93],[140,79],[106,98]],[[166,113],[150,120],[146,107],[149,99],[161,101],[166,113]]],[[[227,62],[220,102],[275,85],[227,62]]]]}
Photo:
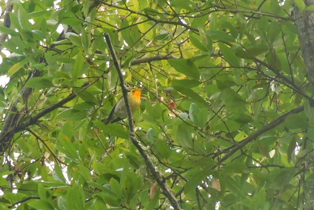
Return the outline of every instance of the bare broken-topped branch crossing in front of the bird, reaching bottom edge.
{"type": "Polygon", "coordinates": [[[138,139],[135,136],[135,131],[134,131],[134,125],[133,125],[133,120],[132,120],[132,112],[131,112],[131,107],[130,107],[130,103],[129,100],[127,98],[127,89],[124,86],[124,79],[123,79],[123,75],[122,75],[122,71],[121,68],[119,66],[119,62],[118,59],[116,57],[116,53],[114,51],[114,48],[112,46],[112,43],[110,41],[110,37],[108,33],[104,34],[105,38],[106,38],[106,42],[108,44],[109,47],[109,51],[110,54],[112,56],[113,59],[113,63],[116,67],[116,70],[118,72],[119,75],[119,79],[120,79],[120,83],[121,83],[121,88],[122,88],[122,94],[123,94],[123,99],[125,101],[125,105],[127,107],[127,118],[129,121],[129,127],[130,127],[130,139],[133,143],[133,145],[138,149],[139,153],[141,154],[141,156],[144,158],[144,161],[150,171],[150,173],[152,173],[154,179],[157,181],[157,183],[159,184],[160,188],[162,189],[162,193],[168,198],[168,200],[171,203],[171,206],[175,209],[175,210],[181,210],[181,207],[179,206],[178,201],[176,200],[175,196],[171,193],[169,187],[167,186],[167,184],[165,183],[165,177],[156,170],[153,162],[151,161],[147,151],[145,150],[145,148],[143,147],[143,145],[141,145],[141,143],[138,141],[138,139]]]}

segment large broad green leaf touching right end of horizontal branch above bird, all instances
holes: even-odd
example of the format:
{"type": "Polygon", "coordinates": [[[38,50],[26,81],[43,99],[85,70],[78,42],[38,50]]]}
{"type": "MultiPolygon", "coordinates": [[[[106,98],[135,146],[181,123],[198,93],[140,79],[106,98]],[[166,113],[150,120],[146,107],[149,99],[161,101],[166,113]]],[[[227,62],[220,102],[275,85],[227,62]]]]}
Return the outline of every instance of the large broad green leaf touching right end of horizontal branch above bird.
{"type": "Polygon", "coordinates": [[[200,74],[198,72],[198,67],[190,59],[169,59],[169,64],[176,69],[176,71],[187,75],[193,79],[199,80],[200,74]]]}

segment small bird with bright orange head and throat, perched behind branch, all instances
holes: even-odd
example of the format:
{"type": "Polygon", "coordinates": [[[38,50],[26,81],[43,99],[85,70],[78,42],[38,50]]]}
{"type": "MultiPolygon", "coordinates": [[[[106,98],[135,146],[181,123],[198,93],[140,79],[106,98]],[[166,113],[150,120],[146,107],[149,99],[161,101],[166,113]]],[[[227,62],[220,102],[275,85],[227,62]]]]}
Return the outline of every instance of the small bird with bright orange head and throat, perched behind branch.
{"type": "MultiPolygon", "coordinates": [[[[142,89],[136,88],[136,89],[131,90],[127,94],[127,98],[129,99],[132,113],[138,110],[139,106],[141,105],[141,93],[142,93],[142,89]]],[[[127,107],[125,105],[125,101],[123,97],[121,97],[116,102],[116,105],[113,106],[112,110],[110,111],[109,116],[103,119],[101,122],[107,125],[109,123],[114,123],[114,122],[123,120],[126,117],[127,117],[127,107]]]]}

